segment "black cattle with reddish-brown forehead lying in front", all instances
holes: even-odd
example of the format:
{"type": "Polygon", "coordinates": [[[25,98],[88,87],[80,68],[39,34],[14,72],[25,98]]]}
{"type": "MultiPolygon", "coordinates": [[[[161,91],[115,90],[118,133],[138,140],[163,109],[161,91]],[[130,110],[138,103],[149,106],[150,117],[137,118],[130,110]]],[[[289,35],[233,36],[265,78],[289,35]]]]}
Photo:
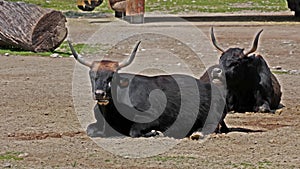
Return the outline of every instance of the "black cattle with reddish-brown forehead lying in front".
{"type": "Polygon", "coordinates": [[[143,76],[119,73],[134,59],[139,43],[125,63],[102,60],[89,63],[69,43],[77,61],[90,68],[96,123],[89,136],[165,136],[197,138],[214,132],[225,105],[217,87],[188,75],[143,76]],[[196,134],[193,134],[197,132],[196,134]]]}

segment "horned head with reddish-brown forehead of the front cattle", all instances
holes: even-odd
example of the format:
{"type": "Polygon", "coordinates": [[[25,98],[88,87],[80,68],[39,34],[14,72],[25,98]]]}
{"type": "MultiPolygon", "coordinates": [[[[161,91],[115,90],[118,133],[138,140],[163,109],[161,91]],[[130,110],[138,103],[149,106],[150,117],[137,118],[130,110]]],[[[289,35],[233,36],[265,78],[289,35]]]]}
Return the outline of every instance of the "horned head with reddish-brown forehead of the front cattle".
{"type": "Polygon", "coordinates": [[[82,58],[82,56],[78,55],[72,44],[68,41],[72,54],[74,58],[81,64],[90,68],[89,76],[92,84],[92,93],[94,100],[98,101],[99,105],[106,106],[112,99],[111,88],[114,84],[117,84],[119,87],[127,87],[128,80],[121,79],[118,76],[118,70],[128,66],[132,63],[138,46],[141,42],[138,42],[133,49],[129,59],[125,62],[119,63],[110,60],[102,60],[102,61],[93,61],[88,62],[82,58]]]}

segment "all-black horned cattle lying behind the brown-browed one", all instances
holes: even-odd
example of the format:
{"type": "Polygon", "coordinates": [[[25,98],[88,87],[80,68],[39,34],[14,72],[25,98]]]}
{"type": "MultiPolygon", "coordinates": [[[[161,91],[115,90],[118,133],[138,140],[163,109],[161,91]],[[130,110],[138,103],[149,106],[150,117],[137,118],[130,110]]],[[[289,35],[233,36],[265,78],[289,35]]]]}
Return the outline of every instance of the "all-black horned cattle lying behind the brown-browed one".
{"type": "MultiPolygon", "coordinates": [[[[280,84],[270,71],[266,61],[260,55],[249,55],[256,51],[259,36],[256,35],[249,52],[244,49],[230,48],[223,50],[217,45],[213,28],[211,39],[213,45],[222,52],[219,65],[213,68],[223,72],[226,80],[226,103],[228,111],[235,112],[274,112],[281,100],[280,84]]],[[[213,68],[200,78],[209,81],[213,68]]]]}

